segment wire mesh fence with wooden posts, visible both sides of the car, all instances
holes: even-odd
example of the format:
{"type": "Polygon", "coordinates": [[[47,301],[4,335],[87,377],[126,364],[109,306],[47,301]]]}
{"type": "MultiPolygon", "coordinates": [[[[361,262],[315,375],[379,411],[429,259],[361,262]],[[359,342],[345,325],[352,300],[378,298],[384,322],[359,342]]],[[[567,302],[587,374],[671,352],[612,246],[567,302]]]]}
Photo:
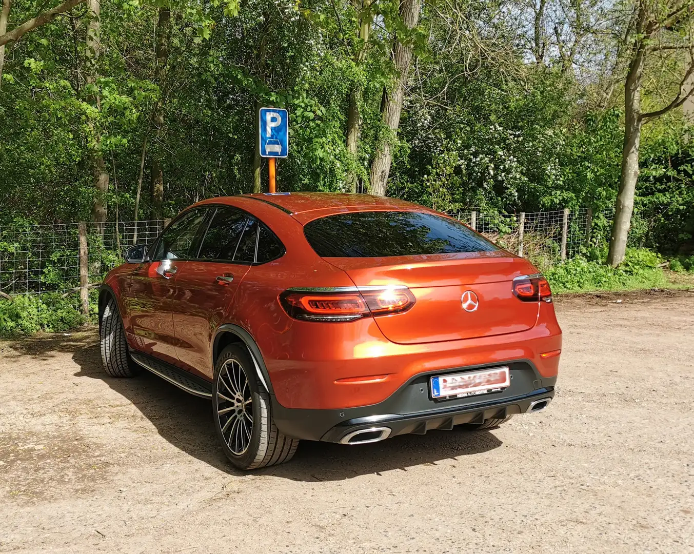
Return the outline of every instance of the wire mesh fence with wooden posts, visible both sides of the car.
{"type": "MultiPolygon", "coordinates": [[[[582,208],[517,214],[470,210],[451,215],[503,249],[523,255],[544,269],[572,258],[585,246],[606,244],[613,210],[593,213],[582,208]]],[[[106,272],[124,261],[129,246],[154,242],[164,222],[110,221],[103,233],[94,224],[0,226],[0,296],[67,296],[84,289],[85,280],[87,287],[94,287],[106,272]],[[81,260],[81,235],[86,260],[81,260]]]]}

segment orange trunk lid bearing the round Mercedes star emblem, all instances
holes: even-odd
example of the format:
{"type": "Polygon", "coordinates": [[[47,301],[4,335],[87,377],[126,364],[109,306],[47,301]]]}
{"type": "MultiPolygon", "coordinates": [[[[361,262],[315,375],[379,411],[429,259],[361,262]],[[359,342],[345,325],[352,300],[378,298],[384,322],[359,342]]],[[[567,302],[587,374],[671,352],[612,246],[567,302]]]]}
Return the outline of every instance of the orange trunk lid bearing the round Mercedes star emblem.
{"type": "Polygon", "coordinates": [[[357,287],[409,287],[416,298],[410,310],[375,318],[391,342],[419,344],[519,333],[532,328],[538,318],[539,302],[522,302],[512,291],[514,277],[534,274],[536,269],[503,251],[325,260],[346,271],[357,287]]]}

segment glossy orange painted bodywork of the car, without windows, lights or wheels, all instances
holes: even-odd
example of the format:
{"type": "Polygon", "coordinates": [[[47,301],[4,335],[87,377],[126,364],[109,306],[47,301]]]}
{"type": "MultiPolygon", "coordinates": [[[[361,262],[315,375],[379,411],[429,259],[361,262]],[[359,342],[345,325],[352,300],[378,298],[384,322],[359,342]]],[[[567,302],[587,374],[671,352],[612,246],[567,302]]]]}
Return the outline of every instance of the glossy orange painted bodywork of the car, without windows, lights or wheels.
{"type": "Polygon", "coordinates": [[[396,199],[323,193],[235,196],[196,206],[219,204],[260,219],[285,245],[285,255],[260,265],[176,260],[176,277],[168,283],[153,278],[149,289],[142,276],[158,262],[115,269],[106,283],[119,291],[131,348],[167,356],[211,379],[214,334],[222,324],[235,324],[255,340],[285,408],[371,405],[417,373],[477,364],[525,359],[541,376],[557,375],[559,356],[540,355],[561,349],[554,306],[522,302],[511,293],[514,277],[536,273],[527,260],[505,251],[323,259],[303,234],[307,222],[333,213],[433,210],[396,199]],[[215,278],[227,273],[233,284],[218,285],[215,278]],[[416,297],[408,312],[322,323],[292,319],[278,300],[289,287],[393,284],[407,285],[416,297]],[[474,312],[461,308],[466,290],[480,299],[474,312]],[[153,313],[155,307],[160,314],[153,313]]]}

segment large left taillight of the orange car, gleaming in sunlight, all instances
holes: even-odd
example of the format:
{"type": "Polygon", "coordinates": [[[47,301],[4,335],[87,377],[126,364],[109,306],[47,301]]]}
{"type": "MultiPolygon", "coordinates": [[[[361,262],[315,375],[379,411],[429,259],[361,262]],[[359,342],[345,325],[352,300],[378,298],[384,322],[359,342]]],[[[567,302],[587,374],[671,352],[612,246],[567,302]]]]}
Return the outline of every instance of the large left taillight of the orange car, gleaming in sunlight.
{"type": "Polygon", "coordinates": [[[415,303],[407,287],[289,289],[280,294],[287,314],[306,321],[354,321],[406,312],[415,303]]]}

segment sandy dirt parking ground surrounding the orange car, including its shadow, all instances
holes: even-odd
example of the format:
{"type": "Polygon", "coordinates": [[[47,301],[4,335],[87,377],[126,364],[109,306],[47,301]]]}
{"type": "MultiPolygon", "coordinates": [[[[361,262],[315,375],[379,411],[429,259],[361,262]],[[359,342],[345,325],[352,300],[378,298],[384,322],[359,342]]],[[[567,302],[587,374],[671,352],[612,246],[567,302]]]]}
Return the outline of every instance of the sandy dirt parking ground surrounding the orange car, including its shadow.
{"type": "Polygon", "coordinates": [[[545,412],[246,474],[208,402],[106,376],[93,329],[0,344],[0,551],[694,552],[694,293],[557,312],[545,412]]]}

